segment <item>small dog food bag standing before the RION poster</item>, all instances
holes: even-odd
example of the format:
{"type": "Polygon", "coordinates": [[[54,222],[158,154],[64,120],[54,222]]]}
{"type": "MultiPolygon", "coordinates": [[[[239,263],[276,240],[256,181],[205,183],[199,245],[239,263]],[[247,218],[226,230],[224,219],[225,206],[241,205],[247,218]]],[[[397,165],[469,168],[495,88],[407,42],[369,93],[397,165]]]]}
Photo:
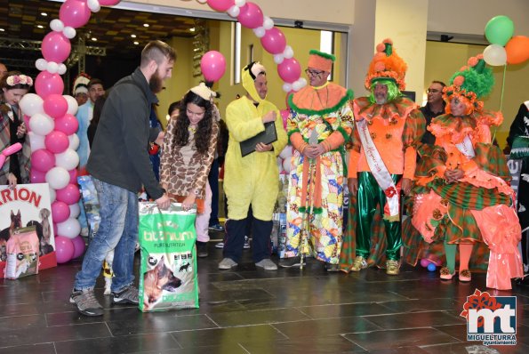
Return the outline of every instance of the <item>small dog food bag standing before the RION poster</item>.
{"type": "Polygon", "coordinates": [[[5,278],[18,279],[37,274],[38,248],[35,227],[15,229],[7,240],[5,278]]]}

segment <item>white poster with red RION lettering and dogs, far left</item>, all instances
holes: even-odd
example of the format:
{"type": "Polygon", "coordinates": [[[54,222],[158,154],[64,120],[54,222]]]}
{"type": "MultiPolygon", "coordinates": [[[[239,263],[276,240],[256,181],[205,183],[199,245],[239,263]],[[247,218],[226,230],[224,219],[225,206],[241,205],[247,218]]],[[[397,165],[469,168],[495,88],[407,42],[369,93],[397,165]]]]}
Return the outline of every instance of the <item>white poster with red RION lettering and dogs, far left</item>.
{"type": "Polygon", "coordinates": [[[39,241],[39,270],[57,266],[52,204],[47,183],[0,186],[0,278],[4,278],[6,245],[15,229],[34,226],[39,241]]]}

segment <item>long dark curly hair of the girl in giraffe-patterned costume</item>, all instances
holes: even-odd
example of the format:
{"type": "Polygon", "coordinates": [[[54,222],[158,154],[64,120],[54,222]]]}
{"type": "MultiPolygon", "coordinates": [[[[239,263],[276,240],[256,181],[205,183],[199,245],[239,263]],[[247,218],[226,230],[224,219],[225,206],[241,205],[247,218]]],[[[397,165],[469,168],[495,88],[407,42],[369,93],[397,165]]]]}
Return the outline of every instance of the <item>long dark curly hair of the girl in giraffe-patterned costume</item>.
{"type": "Polygon", "coordinates": [[[195,147],[196,151],[205,154],[209,148],[212,140],[212,102],[204,100],[202,97],[189,91],[186,93],[181,101],[180,112],[176,118],[176,125],[174,126],[173,146],[186,146],[189,141],[189,118],[188,118],[188,103],[194,103],[196,106],[205,109],[204,118],[198,122],[195,133],[195,147]]]}

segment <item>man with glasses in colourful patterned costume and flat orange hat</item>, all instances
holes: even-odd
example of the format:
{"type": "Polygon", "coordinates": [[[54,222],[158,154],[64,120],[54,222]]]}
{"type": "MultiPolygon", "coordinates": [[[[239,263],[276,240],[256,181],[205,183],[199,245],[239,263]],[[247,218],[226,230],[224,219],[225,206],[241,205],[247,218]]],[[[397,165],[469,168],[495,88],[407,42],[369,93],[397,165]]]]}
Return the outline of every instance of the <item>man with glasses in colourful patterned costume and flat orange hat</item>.
{"type": "Polygon", "coordinates": [[[353,129],[353,92],[327,81],[334,56],[311,50],[309,85],[289,97],[287,132],[293,148],[287,197],[286,251],[281,267],[301,266],[312,253],[338,270],[342,237],[345,143],[353,129]]]}

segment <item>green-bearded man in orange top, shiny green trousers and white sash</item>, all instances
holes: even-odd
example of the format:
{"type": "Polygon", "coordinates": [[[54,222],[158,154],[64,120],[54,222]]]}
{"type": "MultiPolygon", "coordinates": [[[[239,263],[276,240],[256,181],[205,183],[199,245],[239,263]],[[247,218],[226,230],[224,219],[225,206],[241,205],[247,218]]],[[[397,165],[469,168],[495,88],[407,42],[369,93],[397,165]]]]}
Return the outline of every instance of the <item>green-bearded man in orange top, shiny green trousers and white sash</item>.
{"type": "MultiPolygon", "coordinates": [[[[354,226],[349,227],[350,243],[342,254],[341,269],[344,271],[360,271],[367,267],[372,241],[375,243],[379,238],[372,235],[373,231],[373,234],[385,234],[386,272],[389,275],[399,273],[400,193],[403,190],[407,194],[412,188],[416,146],[425,129],[418,106],[400,92],[405,89],[406,68],[391,40],[385,39],[377,45],[365,79],[365,88],[371,95],[353,102],[356,129],[352,137],[353,149],[349,151],[348,186],[357,205],[355,208],[351,200],[356,213],[351,218],[354,226]],[[381,217],[375,215],[379,205],[381,217]],[[373,225],[373,218],[379,224],[373,225]],[[354,246],[350,246],[353,242],[354,246]],[[344,259],[353,248],[356,257],[353,261],[349,256],[348,264],[344,259]]],[[[383,251],[382,247],[374,248],[383,251]]],[[[371,263],[379,261],[375,259],[371,263]]]]}

